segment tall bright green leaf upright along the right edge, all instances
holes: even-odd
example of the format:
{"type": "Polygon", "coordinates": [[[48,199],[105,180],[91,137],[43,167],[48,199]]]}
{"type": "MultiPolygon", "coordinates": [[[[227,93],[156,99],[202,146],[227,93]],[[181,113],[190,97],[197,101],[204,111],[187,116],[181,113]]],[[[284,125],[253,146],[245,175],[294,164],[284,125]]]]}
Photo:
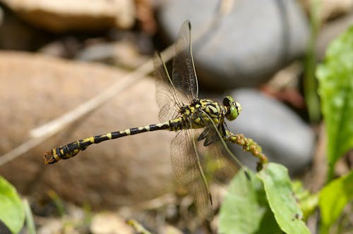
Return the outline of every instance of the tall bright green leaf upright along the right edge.
{"type": "Polygon", "coordinates": [[[353,27],[335,39],[318,66],[318,93],[328,137],[328,178],[337,159],[353,147],[353,27]]]}

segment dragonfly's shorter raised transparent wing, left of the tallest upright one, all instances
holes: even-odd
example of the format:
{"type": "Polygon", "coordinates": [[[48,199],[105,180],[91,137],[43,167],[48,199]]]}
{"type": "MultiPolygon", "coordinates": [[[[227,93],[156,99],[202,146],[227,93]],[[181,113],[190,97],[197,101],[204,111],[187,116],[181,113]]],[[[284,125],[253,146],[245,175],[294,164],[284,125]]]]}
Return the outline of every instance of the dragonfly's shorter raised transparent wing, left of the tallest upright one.
{"type": "Polygon", "coordinates": [[[159,53],[153,57],[153,64],[155,66],[156,101],[160,108],[158,119],[165,122],[178,115],[181,101],[159,53]]]}

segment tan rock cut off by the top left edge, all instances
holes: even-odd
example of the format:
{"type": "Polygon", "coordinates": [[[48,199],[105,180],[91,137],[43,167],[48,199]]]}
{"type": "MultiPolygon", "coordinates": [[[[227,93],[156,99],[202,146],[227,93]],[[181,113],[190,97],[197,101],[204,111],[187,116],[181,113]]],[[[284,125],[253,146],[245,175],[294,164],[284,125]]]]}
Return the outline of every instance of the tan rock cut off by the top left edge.
{"type": "Polygon", "coordinates": [[[133,25],[131,0],[0,0],[28,22],[52,32],[102,30],[133,25]]]}

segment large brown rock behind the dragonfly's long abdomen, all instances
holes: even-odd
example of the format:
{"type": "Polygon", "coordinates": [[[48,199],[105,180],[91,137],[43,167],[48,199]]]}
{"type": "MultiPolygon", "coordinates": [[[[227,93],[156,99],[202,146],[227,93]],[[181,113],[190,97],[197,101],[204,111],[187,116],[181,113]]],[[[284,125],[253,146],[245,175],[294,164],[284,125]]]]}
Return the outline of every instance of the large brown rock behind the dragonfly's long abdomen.
{"type": "MultiPolygon", "coordinates": [[[[28,131],[74,109],[125,73],[95,63],[39,54],[0,53],[0,155],[28,140],[28,131]]],[[[73,159],[44,165],[52,147],[90,135],[157,123],[155,85],[143,79],[59,135],[0,166],[23,194],[59,197],[92,207],[131,205],[171,190],[169,145],[174,133],[157,131],[96,144],[73,159]]]]}

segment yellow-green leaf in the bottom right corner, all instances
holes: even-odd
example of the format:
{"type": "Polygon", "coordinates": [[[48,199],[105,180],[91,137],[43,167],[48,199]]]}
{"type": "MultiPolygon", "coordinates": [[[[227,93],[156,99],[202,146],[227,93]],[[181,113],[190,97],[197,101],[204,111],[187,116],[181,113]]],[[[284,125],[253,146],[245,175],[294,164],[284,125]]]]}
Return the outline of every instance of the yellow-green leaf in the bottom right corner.
{"type": "Polygon", "coordinates": [[[353,171],[346,176],[333,180],[323,187],[319,196],[321,210],[321,233],[326,233],[328,228],[340,216],[345,205],[353,199],[353,171]]]}

